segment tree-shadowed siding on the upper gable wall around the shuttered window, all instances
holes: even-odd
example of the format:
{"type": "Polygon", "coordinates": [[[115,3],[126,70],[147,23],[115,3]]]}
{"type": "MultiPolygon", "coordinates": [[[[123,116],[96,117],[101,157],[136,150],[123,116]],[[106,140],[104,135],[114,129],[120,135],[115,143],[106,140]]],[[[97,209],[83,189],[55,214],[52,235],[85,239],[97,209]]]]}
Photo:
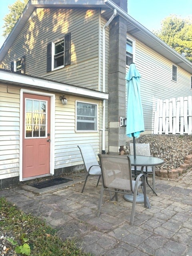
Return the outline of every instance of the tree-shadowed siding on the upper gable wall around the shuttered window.
{"type": "Polygon", "coordinates": [[[4,63],[26,56],[26,74],[98,90],[99,11],[40,9],[25,24],[4,63]],[[48,42],[71,33],[71,65],[46,72],[48,42]]]}

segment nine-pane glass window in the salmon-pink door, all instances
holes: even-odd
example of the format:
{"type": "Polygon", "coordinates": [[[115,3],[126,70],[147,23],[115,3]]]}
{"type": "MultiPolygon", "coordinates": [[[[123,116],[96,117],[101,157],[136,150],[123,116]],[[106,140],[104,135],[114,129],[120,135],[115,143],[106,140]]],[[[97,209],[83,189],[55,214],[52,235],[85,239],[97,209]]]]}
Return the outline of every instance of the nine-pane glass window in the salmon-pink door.
{"type": "Polygon", "coordinates": [[[26,99],[25,135],[46,137],[46,101],[26,99]]]}

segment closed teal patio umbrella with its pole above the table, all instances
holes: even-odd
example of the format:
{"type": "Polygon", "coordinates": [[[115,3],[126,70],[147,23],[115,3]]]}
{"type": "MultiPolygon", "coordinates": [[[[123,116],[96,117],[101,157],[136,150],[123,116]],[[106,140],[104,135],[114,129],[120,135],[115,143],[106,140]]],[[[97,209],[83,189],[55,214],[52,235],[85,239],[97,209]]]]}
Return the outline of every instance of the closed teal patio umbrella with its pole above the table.
{"type": "Polygon", "coordinates": [[[127,89],[127,125],[126,135],[133,137],[134,159],[136,159],[135,138],[144,132],[143,109],[140,96],[140,74],[134,63],[130,64],[126,74],[127,89]]]}

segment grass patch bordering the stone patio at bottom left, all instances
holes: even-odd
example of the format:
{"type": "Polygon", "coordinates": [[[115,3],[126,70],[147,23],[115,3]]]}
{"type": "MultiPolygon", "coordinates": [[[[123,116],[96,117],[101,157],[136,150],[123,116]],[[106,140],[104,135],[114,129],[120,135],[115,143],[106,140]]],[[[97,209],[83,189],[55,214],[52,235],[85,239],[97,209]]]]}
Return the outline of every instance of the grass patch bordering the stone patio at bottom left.
{"type": "MultiPolygon", "coordinates": [[[[0,232],[11,232],[18,245],[28,240],[31,256],[91,256],[77,248],[74,240],[63,242],[56,235],[56,230],[40,218],[24,214],[5,198],[0,198],[0,232]]],[[[9,250],[15,250],[16,246],[7,243],[9,250]]]]}

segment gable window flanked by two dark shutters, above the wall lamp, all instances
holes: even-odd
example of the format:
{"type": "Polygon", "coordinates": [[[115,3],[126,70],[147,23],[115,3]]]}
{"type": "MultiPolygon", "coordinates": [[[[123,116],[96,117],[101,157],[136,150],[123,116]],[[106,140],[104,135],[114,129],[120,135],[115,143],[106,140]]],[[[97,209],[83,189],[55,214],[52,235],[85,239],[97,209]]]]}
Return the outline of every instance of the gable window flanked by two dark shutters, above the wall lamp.
{"type": "Polygon", "coordinates": [[[47,45],[47,72],[71,64],[71,34],[47,45]]]}

